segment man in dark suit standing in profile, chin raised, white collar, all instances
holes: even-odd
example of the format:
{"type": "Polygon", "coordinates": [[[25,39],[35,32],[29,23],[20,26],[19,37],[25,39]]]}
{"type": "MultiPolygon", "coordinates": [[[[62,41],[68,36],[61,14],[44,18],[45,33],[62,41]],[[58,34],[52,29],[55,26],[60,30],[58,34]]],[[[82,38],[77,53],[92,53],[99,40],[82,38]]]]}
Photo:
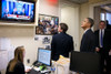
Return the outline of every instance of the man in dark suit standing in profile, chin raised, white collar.
{"type": "Polygon", "coordinates": [[[93,25],[93,20],[91,18],[84,19],[81,28],[84,30],[80,52],[94,52],[95,51],[95,36],[91,28],[93,25]]]}

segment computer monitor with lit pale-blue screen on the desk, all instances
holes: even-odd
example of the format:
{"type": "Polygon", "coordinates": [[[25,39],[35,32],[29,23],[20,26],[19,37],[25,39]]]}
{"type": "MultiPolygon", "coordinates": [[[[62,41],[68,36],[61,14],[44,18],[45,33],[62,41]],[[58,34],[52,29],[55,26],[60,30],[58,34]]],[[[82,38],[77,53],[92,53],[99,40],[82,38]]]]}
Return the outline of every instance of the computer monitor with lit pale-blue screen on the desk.
{"type": "Polygon", "coordinates": [[[38,49],[38,62],[50,66],[51,65],[51,51],[46,49],[38,49]]]}

